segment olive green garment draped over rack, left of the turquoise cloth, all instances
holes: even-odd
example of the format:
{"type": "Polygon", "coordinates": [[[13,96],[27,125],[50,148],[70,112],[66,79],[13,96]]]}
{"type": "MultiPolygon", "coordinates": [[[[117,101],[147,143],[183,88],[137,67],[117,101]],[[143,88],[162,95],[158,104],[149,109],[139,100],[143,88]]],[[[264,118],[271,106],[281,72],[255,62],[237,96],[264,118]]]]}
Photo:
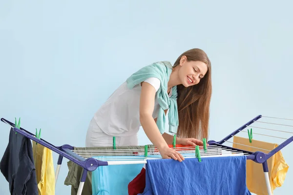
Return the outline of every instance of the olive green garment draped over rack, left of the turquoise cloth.
{"type": "MultiPolygon", "coordinates": [[[[154,149],[154,145],[147,145],[148,149],[154,149]]],[[[117,154],[119,150],[144,150],[145,146],[116,146],[117,154]]],[[[93,156],[91,151],[103,151],[103,154],[115,154],[113,147],[74,147],[74,150],[84,151],[84,156],[93,156]]],[[[68,173],[64,180],[64,185],[71,186],[71,195],[77,195],[80,180],[83,174],[83,168],[72,161],[67,162],[68,173]]],[[[127,186],[126,186],[127,187],[127,186]]],[[[82,195],[92,195],[92,172],[88,171],[85,178],[82,195]]]]}

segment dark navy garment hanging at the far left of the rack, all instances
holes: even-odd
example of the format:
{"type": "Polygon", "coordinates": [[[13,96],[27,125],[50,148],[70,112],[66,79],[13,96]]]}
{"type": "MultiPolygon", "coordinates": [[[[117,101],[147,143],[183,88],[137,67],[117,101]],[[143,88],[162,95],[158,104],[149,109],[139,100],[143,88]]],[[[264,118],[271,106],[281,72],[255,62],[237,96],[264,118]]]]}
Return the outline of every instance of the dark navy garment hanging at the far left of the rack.
{"type": "Polygon", "coordinates": [[[39,195],[32,142],[10,129],[9,142],[0,161],[0,170],[13,195],[39,195]]]}

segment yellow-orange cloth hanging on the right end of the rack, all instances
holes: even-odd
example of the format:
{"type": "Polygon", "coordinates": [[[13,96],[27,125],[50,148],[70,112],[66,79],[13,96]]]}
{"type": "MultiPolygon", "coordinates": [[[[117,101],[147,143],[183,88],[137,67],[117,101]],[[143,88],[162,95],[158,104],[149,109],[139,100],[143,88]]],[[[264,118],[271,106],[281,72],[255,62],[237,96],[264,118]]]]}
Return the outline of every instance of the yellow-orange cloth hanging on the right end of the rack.
{"type": "MultiPolygon", "coordinates": [[[[269,153],[271,150],[276,148],[278,144],[275,143],[268,143],[264,141],[258,141],[255,139],[252,139],[252,142],[249,142],[249,138],[244,137],[237,137],[233,136],[233,148],[237,148],[240,150],[246,150],[249,152],[264,152],[269,153]],[[239,144],[247,145],[239,145],[239,144]],[[252,147],[256,148],[252,148],[252,147]],[[262,148],[262,149],[257,149],[262,148]],[[269,150],[269,151],[267,151],[269,150]]],[[[283,155],[281,151],[274,154],[272,157],[270,157],[268,160],[268,168],[269,168],[269,178],[270,178],[270,184],[271,184],[271,190],[273,194],[273,190],[276,189],[276,187],[281,187],[284,183],[286,174],[288,172],[288,164],[285,162],[283,155]]],[[[252,160],[247,160],[246,164],[246,182],[247,182],[247,188],[251,193],[257,194],[257,195],[268,195],[265,175],[263,166],[261,163],[256,163],[252,160]]]]}

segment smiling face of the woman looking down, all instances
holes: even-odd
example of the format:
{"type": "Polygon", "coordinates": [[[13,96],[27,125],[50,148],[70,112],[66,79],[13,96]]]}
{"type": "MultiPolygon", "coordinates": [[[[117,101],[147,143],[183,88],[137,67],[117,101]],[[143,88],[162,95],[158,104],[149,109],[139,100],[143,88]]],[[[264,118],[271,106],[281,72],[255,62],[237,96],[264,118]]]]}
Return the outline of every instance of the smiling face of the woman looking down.
{"type": "Polygon", "coordinates": [[[178,75],[180,82],[185,87],[198,84],[207,72],[208,66],[202,61],[187,61],[185,56],[180,60],[178,75]]]}

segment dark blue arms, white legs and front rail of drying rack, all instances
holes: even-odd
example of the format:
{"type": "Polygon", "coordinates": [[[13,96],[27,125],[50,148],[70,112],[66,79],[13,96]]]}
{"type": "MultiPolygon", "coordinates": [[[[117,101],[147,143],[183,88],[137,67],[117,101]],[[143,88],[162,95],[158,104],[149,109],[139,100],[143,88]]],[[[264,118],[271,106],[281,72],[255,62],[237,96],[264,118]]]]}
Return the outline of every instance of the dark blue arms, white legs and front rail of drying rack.
{"type": "MultiPolygon", "coordinates": [[[[281,143],[278,147],[276,147],[275,149],[273,149],[272,151],[270,151],[269,153],[263,153],[260,151],[257,152],[249,152],[249,151],[245,151],[245,150],[240,150],[237,148],[233,148],[233,147],[229,147],[226,145],[223,145],[225,142],[229,142],[228,140],[235,136],[236,134],[238,134],[239,132],[241,132],[242,130],[246,129],[247,127],[249,127],[252,123],[254,123],[255,121],[259,120],[262,116],[259,115],[253,119],[251,119],[249,122],[247,122],[246,124],[244,124],[243,126],[241,126],[239,129],[235,130],[234,132],[232,132],[230,135],[228,135],[227,137],[225,137],[224,139],[220,140],[220,141],[214,141],[214,140],[209,140],[207,143],[209,144],[210,148],[220,148],[221,150],[224,151],[231,151],[231,154],[234,153],[242,153],[243,155],[247,156],[247,159],[251,159],[254,162],[257,163],[262,163],[263,164],[263,170],[265,173],[265,178],[266,178],[266,183],[267,183],[267,189],[268,189],[268,193],[269,195],[271,195],[271,186],[270,186],[270,180],[269,180],[269,175],[268,175],[268,164],[267,164],[267,160],[273,156],[275,153],[277,153],[278,151],[280,151],[282,148],[284,148],[286,145],[288,145],[289,143],[291,143],[293,141],[293,136],[288,138],[286,141],[284,141],[283,143],[281,143]]],[[[78,164],[79,166],[81,166],[84,171],[83,171],[83,175],[81,177],[81,182],[79,185],[79,189],[78,189],[78,193],[77,195],[81,195],[83,187],[84,187],[84,181],[87,175],[87,172],[90,171],[94,171],[96,170],[99,166],[107,166],[107,165],[115,165],[115,164],[132,164],[132,163],[146,163],[146,159],[151,159],[151,157],[147,156],[143,159],[139,159],[139,160],[121,160],[118,161],[119,163],[113,163],[113,161],[103,161],[103,160],[98,160],[92,156],[84,156],[82,154],[76,154],[74,152],[74,147],[68,144],[64,144],[62,146],[54,146],[53,144],[49,143],[48,141],[42,139],[42,138],[37,138],[36,135],[32,134],[29,131],[26,131],[23,128],[17,128],[16,125],[4,118],[1,118],[1,121],[4,123],[9,124],[11,127],[13,127],[13,131],[21,134],[24,137],[28,137],[29,139],[43,145],[46,148],[49,148],[50,150],[54,151],[55,153],[59,154],[59,158],[58,158],[58,162],[57,162],[57,168],[56,168],[56,173],[55,173],[55,183],[57,183],[57,179],[58,179],[58,175],[59,175],[59,171],[60,171],[60,167],[62,164],[62,160],[63,157],[67,158],[68,160],[78,164]]],[[[292,126],[293,127],[293,126],[292,126]]],[[[195,147],[193,147],[194,149],[195,147]]],[[[153,151],[153,149],[150,149],[153,151]]],[[[179,149],[180,150],[180,149],[179,149]]],[[[119,151],[119,150],[115,150],[115,151],[119,151]]],[[[78,153],[78,152],[77,152],[78,153]]],[[[100,153],[101,154],[101,153],[100,153]]],[[[99,154],[96,154],[99,155],[99,154]]],[[[133,155],[132,155],[133,156],[133,155]]],[[[150,155],[151,156],[151,155],[150,155]]],[[[225,156],[225,155],[223,155],[225,156]]],[[[193,156],[194,157],[194,156],[193,156]]],[[[202,156],[202,157],[209,157],[209,156],[202,156]]],[[[118,159],[118,158],[117,158],[118,159]]]]}

